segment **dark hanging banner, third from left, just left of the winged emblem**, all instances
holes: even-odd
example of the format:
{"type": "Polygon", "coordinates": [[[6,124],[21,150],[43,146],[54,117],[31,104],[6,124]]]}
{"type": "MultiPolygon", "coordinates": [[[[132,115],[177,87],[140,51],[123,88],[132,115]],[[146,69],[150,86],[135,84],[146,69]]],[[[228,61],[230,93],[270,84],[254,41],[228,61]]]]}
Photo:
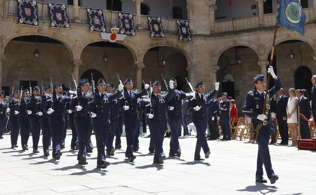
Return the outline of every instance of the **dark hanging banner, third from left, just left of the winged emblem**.
{"type": "Polygon", "coordinates": [[[102,9],[87,8],[90,31],[106,33],[102,9]]]}

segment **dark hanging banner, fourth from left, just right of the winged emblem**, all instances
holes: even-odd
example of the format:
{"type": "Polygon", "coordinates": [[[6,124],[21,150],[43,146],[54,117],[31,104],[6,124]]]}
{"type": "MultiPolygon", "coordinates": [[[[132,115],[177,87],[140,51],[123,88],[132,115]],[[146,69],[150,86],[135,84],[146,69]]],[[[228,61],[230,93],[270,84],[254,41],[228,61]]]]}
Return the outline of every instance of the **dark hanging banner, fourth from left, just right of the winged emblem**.
{"type": "Polygon", "coordinates": [[[135,36],[135,25],[132,13],[118,12],[121,34],[135,36]]]}

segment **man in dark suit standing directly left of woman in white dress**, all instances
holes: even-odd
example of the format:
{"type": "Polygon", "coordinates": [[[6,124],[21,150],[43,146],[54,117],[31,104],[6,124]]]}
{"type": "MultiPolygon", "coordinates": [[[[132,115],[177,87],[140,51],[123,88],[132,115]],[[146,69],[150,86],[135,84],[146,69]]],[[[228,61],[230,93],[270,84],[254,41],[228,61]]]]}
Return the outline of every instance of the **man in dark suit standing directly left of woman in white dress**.
{"type": "Polygon", "coordinates": [[[281,88],[277,95],[279,96],[276,99],[276,118],[277,123],[279,125],[279,132],[282,138],[281,145],[289,144],[289,127],[287,123],[287,114],[286,114],[286,106],[288,104],[289,98],[284,95],[284,90],[281,88]]]}

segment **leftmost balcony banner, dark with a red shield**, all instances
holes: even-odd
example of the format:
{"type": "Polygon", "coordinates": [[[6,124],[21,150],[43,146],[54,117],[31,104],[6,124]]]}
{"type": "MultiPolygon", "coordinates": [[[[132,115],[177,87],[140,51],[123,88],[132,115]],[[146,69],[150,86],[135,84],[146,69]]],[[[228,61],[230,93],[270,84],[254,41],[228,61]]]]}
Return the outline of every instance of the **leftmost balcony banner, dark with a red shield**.
{"type": "Polygon", "coordinates": [[[17,0],[19,9],[19,24],[38,26],[37,4],[32,0],[17,0]]]}

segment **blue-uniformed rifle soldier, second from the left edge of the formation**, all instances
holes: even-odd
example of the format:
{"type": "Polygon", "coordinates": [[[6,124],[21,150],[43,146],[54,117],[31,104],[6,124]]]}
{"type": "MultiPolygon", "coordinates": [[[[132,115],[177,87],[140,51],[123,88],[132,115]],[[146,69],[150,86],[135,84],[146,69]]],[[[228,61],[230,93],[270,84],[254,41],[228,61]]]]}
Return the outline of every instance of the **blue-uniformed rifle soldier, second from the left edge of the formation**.
{"type": "Polygon", "coordinates": [[[10,113],[9,123],[10,123],[10,130],[11,130],[11,148],[17,148],[17,142],[19,137],[19,122],[18,117],[19,114],[15,114],[15,112],[18,109],[17,102],[15,100],[18,100],[20,98],[20,91],[15,90],[13,99],[8,103],[7,113],[10,113]]]}

